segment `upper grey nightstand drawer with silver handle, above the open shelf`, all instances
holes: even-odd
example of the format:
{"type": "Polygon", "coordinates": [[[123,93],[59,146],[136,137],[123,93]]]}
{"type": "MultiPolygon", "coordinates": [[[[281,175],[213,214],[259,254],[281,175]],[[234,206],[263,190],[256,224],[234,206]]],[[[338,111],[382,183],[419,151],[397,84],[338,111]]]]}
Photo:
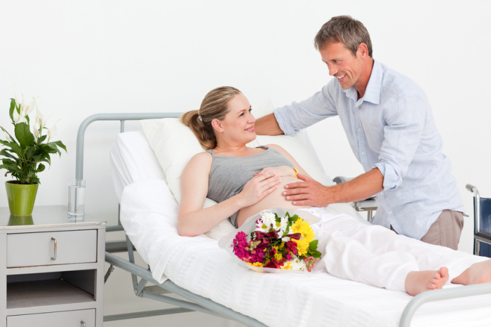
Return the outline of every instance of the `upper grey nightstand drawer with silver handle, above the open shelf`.
{"type": "Polygon", "coordinates": [[[65,265],[96,260],[95,229],[7,235],[7,267],[65,265]]]}

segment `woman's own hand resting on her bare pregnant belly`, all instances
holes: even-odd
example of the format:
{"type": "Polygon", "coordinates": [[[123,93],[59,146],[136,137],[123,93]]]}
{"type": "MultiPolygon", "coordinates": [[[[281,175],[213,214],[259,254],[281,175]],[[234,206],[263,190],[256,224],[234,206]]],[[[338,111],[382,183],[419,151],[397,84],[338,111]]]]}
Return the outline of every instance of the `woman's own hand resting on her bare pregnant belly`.
{"type": "Polygon", "coordinates": [[[242,191],[237,194],[241,196],[243,208],[252,206],[264,199],[264,196],[274,192],[280,182],[281,176],[276,175],[276,173],[257,173],[253,179],[245,183],[242,191]]]}

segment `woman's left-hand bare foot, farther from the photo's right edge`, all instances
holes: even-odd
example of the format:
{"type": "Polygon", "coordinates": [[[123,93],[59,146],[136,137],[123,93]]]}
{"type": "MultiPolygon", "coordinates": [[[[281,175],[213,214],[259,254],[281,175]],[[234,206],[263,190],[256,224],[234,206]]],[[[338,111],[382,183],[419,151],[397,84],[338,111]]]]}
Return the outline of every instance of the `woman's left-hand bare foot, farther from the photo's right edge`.
{"type": "Polygon", "coordinates": [[[405,278],[405,291],[415,296],[424,291],[442,288],[448,281],[448,269],[426,270],[424,272],[410,272],[405,278]]]}

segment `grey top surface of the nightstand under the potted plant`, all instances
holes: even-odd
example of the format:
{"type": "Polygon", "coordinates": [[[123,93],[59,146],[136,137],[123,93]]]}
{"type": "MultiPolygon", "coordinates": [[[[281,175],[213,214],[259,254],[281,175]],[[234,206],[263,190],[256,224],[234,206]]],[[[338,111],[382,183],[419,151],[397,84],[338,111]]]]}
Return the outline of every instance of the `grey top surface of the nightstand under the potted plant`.
{"type": "Polygon", "coordinates": [[[69,227],[74,224],[106,225],[105,221],[86,214],[83,220],[69,220],[67,206],[34,206],[30,216],[13,216],[8,208],[0,208],[0,230],[19,228],[69,227]]]}

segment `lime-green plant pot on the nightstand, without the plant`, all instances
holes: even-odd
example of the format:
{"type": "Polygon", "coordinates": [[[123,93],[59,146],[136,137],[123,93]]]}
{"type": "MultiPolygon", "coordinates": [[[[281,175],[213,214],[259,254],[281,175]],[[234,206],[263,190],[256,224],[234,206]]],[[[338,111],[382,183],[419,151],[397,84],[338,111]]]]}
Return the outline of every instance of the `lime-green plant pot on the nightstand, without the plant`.
{"type": "Polygon", "coordinates": [[[16,184],[16,180],[5,182],[8,208],[11,215],[30,215],[36,201],[39,184],[16,184]]]}

